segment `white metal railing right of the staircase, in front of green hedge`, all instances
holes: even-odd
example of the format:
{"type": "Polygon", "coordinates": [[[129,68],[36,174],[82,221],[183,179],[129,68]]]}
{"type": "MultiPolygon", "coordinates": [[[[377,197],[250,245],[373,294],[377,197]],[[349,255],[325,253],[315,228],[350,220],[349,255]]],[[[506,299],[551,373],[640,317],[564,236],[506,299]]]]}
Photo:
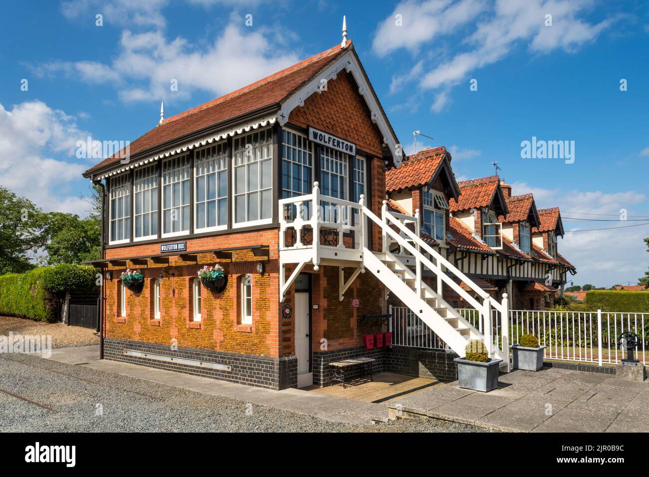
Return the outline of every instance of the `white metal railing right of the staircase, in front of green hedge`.
{"type": "Polygon", "coordinates": [[[626,357],[620,335],[631,331],[640,338],[636,358],[649,364],[649,313],[511,310],[510,316],[512,343],[531,333],[546,346],[547,360],[617,363],[626,357]]]}

